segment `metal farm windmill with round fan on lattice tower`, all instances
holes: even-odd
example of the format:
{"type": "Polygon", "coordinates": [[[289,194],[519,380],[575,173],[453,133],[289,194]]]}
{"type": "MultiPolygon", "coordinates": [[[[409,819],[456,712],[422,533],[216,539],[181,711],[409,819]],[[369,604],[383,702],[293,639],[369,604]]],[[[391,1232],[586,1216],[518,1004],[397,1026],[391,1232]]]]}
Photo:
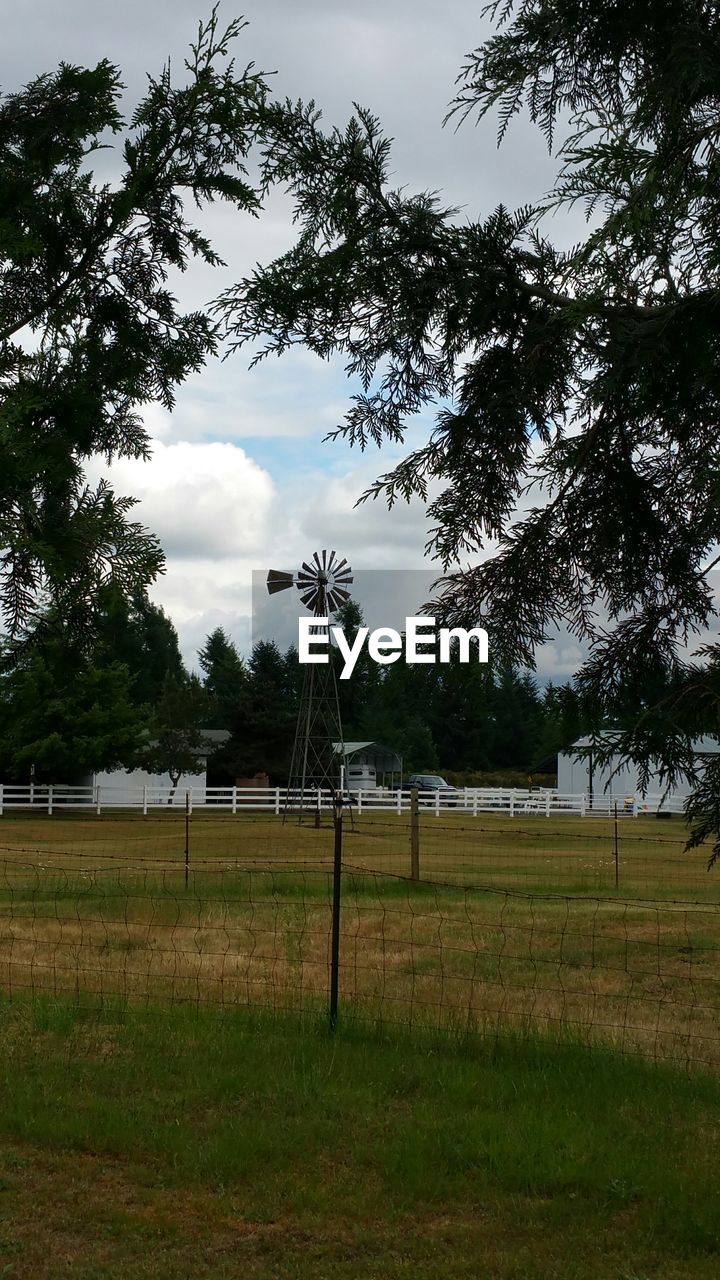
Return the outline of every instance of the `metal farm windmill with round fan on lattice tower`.
{"type": "MultiPolygon", "coordinates": [[[[300,599],[316,618],[328,618],[350,599],[347,588],[352,573],[346,559],[334,552],[314,552],[310,562],[304,561],[297,573],[270,570],[268,594],[296,588],[300,599]]],[[[316,634],[327,630],[320,623],[316,634]]],[[[334,666],[309,663],[302,677],[302,691],[297,713],[297,727],[290,764],[288,797],[295,794],[293,806],[315,808],[318,787],[338,788],[341,767],[345,763],[342,723],[334,666]],[[337,745],[340,744],[340,751],[337,745]]],[[[288,804],[286,803],[286,812],[288,804]]]]}

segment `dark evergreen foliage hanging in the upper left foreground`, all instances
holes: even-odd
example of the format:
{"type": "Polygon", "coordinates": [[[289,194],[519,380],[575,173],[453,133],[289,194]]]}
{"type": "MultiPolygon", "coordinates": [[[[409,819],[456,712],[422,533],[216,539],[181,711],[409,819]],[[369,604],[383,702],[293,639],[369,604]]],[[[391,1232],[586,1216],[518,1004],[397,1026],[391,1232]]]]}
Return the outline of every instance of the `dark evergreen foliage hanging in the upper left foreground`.
{"type": "Polygon", "coordinates": [[[120,72],[61,64],[0,97],[0,604],[10,631],[42,591],[90,643],[97,589],[131,595],[163,564],[156,538],[128,518],[133,499],[88,458],[140,458],[138,407],[173,406],[176,387],[217,349],[217,325],[182,314],[169,279],[220,259],[187,218],[195,204],[255,212],[245,175],[261,77],[236,76],[217,13],[200,28],[186,82],[149,79],[126,125],[120,72]],[[92,156],[122,134],[110,182],[92,156]]]}

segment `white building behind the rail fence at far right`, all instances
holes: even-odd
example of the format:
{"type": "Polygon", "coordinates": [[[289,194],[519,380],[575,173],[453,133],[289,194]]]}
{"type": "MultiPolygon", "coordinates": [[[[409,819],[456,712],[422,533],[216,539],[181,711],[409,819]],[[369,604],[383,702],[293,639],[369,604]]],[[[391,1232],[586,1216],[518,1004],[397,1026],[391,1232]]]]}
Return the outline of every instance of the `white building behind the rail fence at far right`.
{"type": "MultiPolygon", "coordinates": [[[[598,735],[606,737],[609,735],[598,735]]],[[[641,791],[638,769],[634,764],[625,764],[618,769],[620,755],[616,754],[606,764],[601,764],[593,758],[592,739],[579,737],[569,751],[557,755],[557,791],[560,795],[587,795],[601,800],[610,795],[619,797],[642,799],[644,795],[661,796],[666,783],[661,782],[657,771],[650,774],[648,786],[641,791]],[[618,771],[618,772],[616,772],[618,771]]],[[[694,751],[698,756],[717,755],[720,742],[712,737],[698,737],[694,742],[694,751]]],[[[667,792],[667,801],[682,803],[692,791],[689,778],[678,782],[667,792]]]]}

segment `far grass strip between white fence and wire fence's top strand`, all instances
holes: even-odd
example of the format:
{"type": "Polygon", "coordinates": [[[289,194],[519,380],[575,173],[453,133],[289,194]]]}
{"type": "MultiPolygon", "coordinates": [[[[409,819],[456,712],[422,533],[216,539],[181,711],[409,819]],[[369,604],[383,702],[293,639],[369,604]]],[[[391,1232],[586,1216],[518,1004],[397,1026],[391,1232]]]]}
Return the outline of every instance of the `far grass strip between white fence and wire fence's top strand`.
{"type": "MultiPolygon", "coordinates": [[[[707,872],[710,849],[684,852],[682,818],[620,818],[619,892],[623,897],[720,902],[720,869],[707,872]]],[[[300,861],[316,865],[332,858],[329,815],[315,831],[307,822],[283,824],[273,814],[196,810],[190,822],[191,863],[300,861]]],[[[76,812],[0,817],[0,858],[29,854],[45,863],[68,856],[92,865],[152,865],[177,861],[184,851],[184,813],[76,812]]],[[[378,872],[410,873],[409,815],[364,812],[345,822],[345,860],[378,872]]],[[[460,884],[495,884],[553,893],[615,892],[615,823],[607,817],[553,814],[420,814],[423,879],[460,884]]]]}

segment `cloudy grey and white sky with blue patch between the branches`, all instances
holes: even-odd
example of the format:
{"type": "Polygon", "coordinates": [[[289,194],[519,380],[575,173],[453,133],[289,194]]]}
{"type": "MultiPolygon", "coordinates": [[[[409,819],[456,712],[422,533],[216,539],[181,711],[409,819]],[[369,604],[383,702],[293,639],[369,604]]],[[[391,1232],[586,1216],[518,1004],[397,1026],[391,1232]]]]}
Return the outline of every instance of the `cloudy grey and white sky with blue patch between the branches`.
{"type": "MultiPolygon", "coordinates": [[[[223,0],[220,17],[245,14],[249,26],[237,60],[275,72],[279,96],[314,97],[325,120],[342,124],[354,100],[380,116],[395,138],[395,183],[439,189],[468,218],[541,196],[553,163],[543,141],[519,120],[498,151],[495,124],[442,128],[454,81],[484,33],[480,4],[454,0],[223,0]]],[[[202,0],[0,0],[4,12],[0,82],[20,87],[63,60],[94,65],[111,59],[123,73],[128,108],[168,56],[182,60],[209,13],[202,0]]],[[[258,221],[213,209],[205,227],[227,261],[196,269],[181,282],[187,306],[220,289],[292,242],[288,205],[275,198],[258,221]]],[[[582,234],[575,220],[553,228],[556,239],[582,234]]],[[[249,370],[246,357],[213,362],[179,388],[170,415],[151,407],[150,462],[113,468],[119,492],[163,541],[165,575],[154,598],[173,618],[188,663],[220,625],[246,650],[252,571],[293,568],[320,547],[334,547],[357,570],[419,570],[427,539],[420,504],[387,512],[378,503],[355,509],[359,494],[402,451],[361,456],[323,435],[341,421],[352,388],[340,364],[295,351],[249,370]]],[[[407,448],[428,422],[413,429],[407,448]]],[[[391,620],[388,620],[389,622],[391,620]]],[[[570,640],[548,646],[539,671],[569,675],[580,654],[570,640]]]]}

